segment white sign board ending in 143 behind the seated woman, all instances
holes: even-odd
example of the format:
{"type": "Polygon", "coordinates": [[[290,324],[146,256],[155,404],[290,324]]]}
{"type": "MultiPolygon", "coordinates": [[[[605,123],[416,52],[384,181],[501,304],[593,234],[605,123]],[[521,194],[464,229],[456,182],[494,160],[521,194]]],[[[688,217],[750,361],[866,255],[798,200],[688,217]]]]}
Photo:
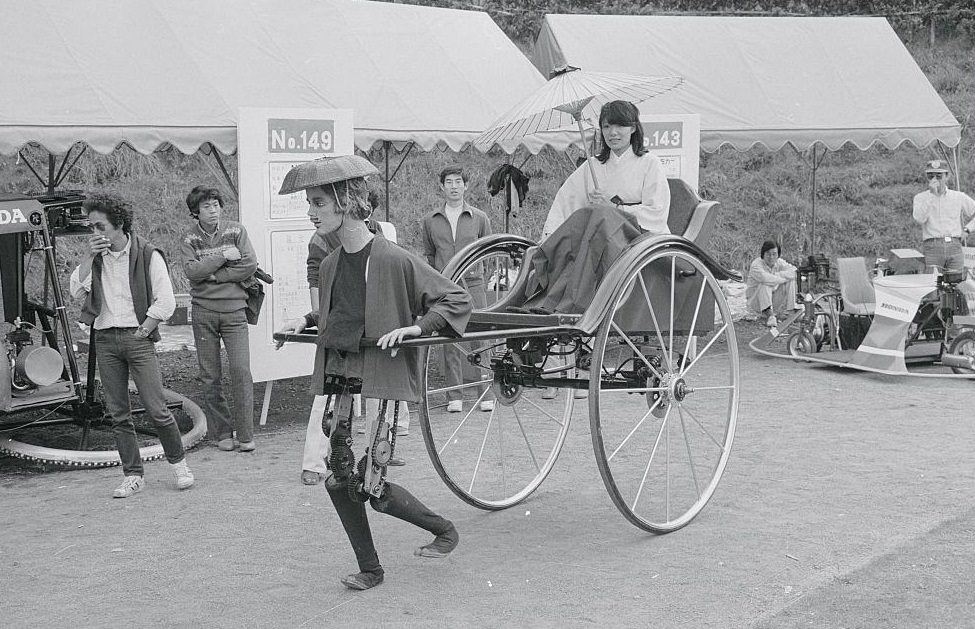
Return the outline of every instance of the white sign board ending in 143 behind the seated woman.
{"type": "Polygon", "coordinates": [[[701,165],[701,116],[640,114],[643,145],[660,158],[668,179],[683,179],[697,191],[701,165]]]}

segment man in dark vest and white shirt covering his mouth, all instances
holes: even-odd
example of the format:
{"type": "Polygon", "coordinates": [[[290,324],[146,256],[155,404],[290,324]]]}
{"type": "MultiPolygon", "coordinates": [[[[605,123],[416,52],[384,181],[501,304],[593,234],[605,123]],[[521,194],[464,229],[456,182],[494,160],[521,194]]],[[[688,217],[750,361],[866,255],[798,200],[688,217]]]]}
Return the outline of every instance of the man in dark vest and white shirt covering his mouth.
{"type": "Polygon", "coordinates": [[[176,420],[166,406],[153,345],[159,340],[157,326],[176,309],[166,261],[155,246],[131,233],[132,213],[121,199],[91,197],[84,208],[94,234],[88,239],[88,255],[71,273],[71,295],[85,300],[81,321],[95,329],[91,351],[97,349],[105,405],[125,474],[113,495],[128,498],[145,485],[129,378],[156,426],[176,487],[187,489],[193,485],[193,474],[176,420]]]}

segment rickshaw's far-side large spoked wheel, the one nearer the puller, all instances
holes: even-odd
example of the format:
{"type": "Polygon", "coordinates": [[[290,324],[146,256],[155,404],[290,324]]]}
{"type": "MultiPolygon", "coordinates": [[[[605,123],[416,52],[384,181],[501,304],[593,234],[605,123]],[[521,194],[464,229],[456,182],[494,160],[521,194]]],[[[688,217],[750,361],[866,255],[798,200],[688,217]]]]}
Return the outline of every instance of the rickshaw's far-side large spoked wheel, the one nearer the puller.
{"type": "MultiPolygon", "coordinates": [[[[471,290],[471,271],[480,266],[487,305],[506,296],[531,244],[518,237],[489,238],[491,247],[469,252],[462,264],[451,263],[445,269],[452,280],[471,290]]],[[[461,500],[486,510],[518,504],[545,480],[568,434],[574,401],[571,389],[553,392],[496,382],[491,359],[506,351],[505,341],[500,339],[482,342],[480,347],[472,343],[434,346],[427,349],[424,357],[425,394],[420,417],[430,460],[440,478],[461,500]],[[465,377],[467,383],[448,387],[443,360],[444,352],[452,350],[464,354],[462,364],[471,377],[465,377]],[[478,365],[470,364],[470,355],[480,358],[478,365]],[[477,381],[475,376],[484,380],[477,381]],[[461,412],[448,412],[450,391],[464,394],[461,412]],[[549,397],[552,394],[554,398],[549,397]],[[482,402],[493,405],[493,409],[482,411],[482,402]]],[[[547,367],[546,372],[555,376],[570,369],[555,365],[547,367]]]]}

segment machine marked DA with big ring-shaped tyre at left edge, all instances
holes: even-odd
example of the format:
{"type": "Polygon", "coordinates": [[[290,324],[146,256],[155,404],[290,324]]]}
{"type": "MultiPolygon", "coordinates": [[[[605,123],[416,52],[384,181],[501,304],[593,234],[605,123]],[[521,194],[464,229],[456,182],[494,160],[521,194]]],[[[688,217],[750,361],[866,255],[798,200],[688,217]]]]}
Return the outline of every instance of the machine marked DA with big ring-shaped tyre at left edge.
{"type": "MultiPolygon", "coordinates": [[[[0,451],[101,467],[118,465],[118,452],[101,400],[93,336],[85,374],[78,364],[55,250],[56,235],[90,233],[83,200],[71,192],[0,196],[0,451]]],[[[206,435],[203,411],[174,391],[165,393],[183,445],[192,447],[206,435]]],[[[134,392],[132,399],[138,399],[134,392]]],[[[152,422],[137,404],[133,417],[142,458],[162,458],[152,422]]]]}

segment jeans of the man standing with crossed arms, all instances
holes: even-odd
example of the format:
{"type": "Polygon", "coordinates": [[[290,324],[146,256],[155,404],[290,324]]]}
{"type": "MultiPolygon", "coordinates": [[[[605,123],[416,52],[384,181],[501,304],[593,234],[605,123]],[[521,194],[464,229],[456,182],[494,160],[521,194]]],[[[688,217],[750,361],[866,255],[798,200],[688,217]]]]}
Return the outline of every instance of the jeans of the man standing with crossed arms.
{"type": "Polygon", "coordinates": [[[214,312],[193,306],[193,339],[203,381],[203,406],[207,415],[207,433],[211,439],[254,440],[254,380],[251,378],[250,345],[247,341],[247,316],[244,309],[214,312]],[[230,383],[234,396],[231,416],[223,393],[220,362],[220,339],[227,348],[230,383]]]}

